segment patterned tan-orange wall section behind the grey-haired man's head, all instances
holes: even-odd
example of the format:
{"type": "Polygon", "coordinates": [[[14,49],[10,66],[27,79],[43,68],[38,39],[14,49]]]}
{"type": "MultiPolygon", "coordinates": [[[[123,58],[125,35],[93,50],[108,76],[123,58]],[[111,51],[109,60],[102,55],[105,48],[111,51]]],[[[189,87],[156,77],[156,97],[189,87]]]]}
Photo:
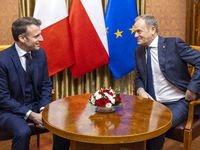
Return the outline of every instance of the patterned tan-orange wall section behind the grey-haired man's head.
{"type": "Polygon", "coordinates": [[[160,36],[185,41],[186,0],[146,0],[146,13],[158,20],[160,36]]]}

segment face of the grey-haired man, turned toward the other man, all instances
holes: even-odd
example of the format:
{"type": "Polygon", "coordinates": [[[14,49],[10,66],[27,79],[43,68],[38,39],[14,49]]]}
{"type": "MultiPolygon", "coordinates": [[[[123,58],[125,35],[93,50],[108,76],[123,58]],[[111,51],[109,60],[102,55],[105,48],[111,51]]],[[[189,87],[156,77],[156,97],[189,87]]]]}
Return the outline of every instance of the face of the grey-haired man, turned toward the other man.
{"type": "Polygon", "coordinates": [[[145,20],[140,18],[135,22],[134,31],[137,44],[148,47],[155,38],[155,27],[150,29],[146,26],[145,20]]]}

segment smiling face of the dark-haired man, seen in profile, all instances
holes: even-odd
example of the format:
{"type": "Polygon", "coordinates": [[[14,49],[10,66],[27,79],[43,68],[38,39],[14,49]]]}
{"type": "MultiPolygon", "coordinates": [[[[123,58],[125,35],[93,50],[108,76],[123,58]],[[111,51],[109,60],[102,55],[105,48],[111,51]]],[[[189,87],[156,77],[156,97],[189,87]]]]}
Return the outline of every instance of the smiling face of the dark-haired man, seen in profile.
{"type": "Polygon", "coordinates": [[[41,35],[41,30],[39,26],[34,24],[27,26],[27,37],[24,42],[25,50],[39,50],[40,42],[43,41],[43,37],[41,35]]]}

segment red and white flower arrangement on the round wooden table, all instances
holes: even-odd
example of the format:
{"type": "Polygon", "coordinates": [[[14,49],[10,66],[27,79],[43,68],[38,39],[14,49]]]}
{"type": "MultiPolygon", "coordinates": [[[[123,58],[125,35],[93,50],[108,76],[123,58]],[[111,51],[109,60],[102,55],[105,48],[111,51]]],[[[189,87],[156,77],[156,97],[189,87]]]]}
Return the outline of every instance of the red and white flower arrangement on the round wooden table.
{"type": "Polygon", "coordinates": [[[91,95],[89,103],[93,106],[107,107],[119,106],[122,103],[120,91],[113,90],[111,87],[105,88],[104,86],[91,95]]]}

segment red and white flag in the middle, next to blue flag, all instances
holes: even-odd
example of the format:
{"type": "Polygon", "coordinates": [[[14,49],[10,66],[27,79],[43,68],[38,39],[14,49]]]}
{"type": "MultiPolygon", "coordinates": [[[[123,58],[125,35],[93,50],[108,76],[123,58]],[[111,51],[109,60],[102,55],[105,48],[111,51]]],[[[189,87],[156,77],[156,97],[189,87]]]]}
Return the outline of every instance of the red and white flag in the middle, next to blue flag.
{"type": "Polygon", "coordinates": [[[72,0],[69,24],[75,64],[70,67],[78,78],[109,62],[107,36],[101,0],[72,0]]]}

